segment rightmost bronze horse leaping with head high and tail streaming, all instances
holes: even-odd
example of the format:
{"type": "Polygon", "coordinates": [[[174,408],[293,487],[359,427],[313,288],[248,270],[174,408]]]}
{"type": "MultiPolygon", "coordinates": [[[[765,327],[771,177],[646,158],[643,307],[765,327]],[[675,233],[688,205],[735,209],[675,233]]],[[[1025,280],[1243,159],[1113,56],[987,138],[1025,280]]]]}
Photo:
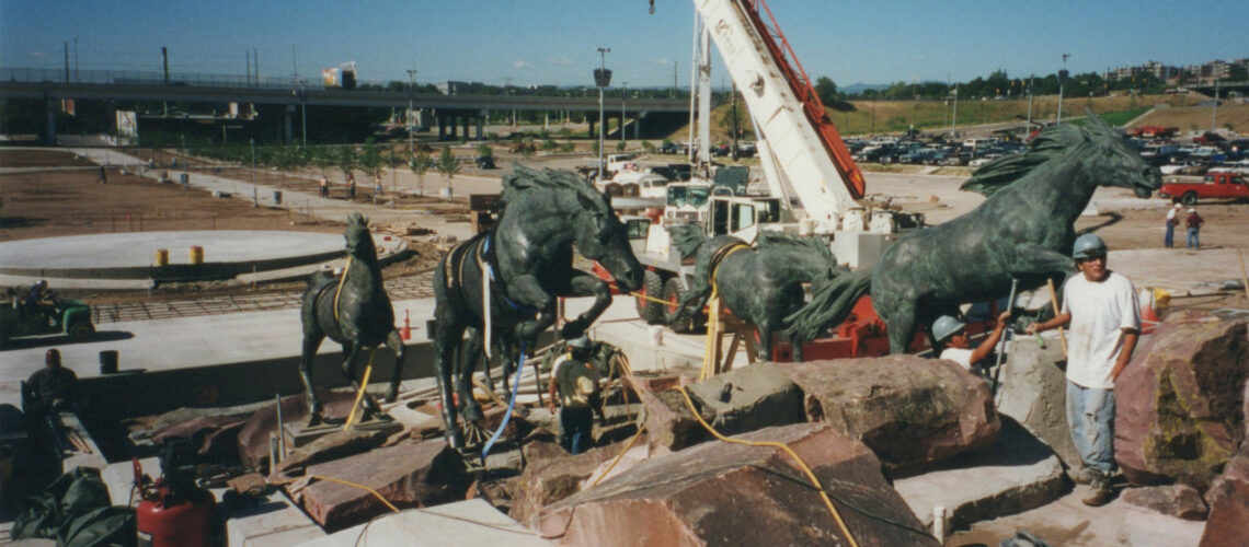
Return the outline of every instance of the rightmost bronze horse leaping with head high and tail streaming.
{"type": "Polygon", "coordinates": [[[1012,279],[1022,290],[1060,280],[1075,268],[1074,222],[1098,186],[1144,198],[1162,186],[1162,173],[1092,112],[1083,127],[1050,126],[1028,152],[997,159],[963,183],[988,196],[970,213],[903,235],[873,267],[814,287],[812,303],[786,318],[789,333],[809,340],[871,293],[889,329],[889,351],[903,353],[918,325],[964,303],[1007,297],[1012,279]]]}

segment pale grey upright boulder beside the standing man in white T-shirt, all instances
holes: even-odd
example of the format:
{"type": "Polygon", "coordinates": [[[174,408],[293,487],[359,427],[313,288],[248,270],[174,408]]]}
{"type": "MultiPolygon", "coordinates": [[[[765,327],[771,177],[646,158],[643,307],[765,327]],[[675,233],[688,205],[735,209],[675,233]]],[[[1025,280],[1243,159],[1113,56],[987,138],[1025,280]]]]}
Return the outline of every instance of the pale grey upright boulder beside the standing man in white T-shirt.
{"type": "Polygon", "coordinates": [[[1035,338],[1010,340],[998,380],[998,412],[1015,419],[1049,445],[1068,467],[1080,467],[1080,452],[1067,424],[1067,358],[1058,339],[1042,348],[1035,338]]]}

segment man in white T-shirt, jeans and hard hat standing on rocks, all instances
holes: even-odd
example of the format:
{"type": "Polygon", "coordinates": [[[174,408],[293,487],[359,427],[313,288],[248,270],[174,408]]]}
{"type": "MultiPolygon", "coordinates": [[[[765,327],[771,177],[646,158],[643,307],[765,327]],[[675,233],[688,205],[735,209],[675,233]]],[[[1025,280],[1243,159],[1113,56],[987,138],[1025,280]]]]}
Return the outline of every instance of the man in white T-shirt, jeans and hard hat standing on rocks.
{"type": "Polygon", "coordinates": [[[1098,507],[1114,498],[1114,381],[1140,336],[1140,305],[1128,278],[1107,269],[1105,242],[1075,239],[1072,258],[1080,275],[1063,285],[1058,316],[1028,325],[1039,333],[1070,325],[1067,335],[1067,424],[1093,486],[1082,501],[1098,507]]]}

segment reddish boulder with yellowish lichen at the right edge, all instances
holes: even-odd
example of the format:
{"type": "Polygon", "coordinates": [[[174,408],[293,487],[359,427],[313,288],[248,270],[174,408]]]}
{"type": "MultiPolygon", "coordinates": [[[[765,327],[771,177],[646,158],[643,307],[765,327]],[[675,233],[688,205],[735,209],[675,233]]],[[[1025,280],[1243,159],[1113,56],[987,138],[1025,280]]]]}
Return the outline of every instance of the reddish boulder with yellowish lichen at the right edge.
{"type": "Polygon", "coordinates": [[[1204,491],[1244,437],[1249,320],[1179,312],[1115,381],[1115,459],[1138,485],[1204,491]]]}

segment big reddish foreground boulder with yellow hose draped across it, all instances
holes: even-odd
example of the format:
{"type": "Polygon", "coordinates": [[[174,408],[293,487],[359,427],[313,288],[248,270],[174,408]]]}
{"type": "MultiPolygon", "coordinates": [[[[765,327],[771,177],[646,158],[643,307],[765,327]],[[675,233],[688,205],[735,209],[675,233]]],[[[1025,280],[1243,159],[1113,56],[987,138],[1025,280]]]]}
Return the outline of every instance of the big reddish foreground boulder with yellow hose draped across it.
{"type": "MultiPolygon", "coordinates": [[[[797,452],[837,500],[859,545],[937,545],[862,442],[824,424],[768,427],[739,439],[781,442],[797,452]]],[[[788,454],[719,441],[654,456],[535,520],[543,537],[562,545],[847,545],[788,454]]]]}

